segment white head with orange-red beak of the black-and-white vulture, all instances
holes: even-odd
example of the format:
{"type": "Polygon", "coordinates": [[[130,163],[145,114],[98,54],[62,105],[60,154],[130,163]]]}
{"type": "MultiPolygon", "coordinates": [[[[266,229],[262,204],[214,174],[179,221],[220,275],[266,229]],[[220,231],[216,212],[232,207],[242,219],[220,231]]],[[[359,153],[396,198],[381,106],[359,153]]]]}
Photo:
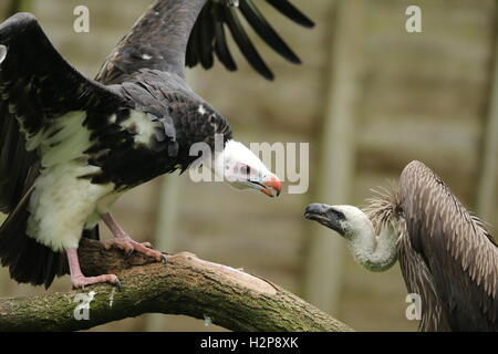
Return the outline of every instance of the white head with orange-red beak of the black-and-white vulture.
{"type": "Polygon", "coordinates": [[[253,188],[276,197],[282,188],[279,178],[239,142],[228,140],[215,156],[211,169],[237,189],[253,188]]]}

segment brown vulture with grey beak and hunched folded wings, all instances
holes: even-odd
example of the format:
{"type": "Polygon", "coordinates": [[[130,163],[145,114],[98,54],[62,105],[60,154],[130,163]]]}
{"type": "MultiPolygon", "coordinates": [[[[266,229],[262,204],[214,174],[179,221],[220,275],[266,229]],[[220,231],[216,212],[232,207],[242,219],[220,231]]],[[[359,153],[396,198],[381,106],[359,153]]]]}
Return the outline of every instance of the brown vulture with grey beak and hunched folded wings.
{"type": "Polygon", "coordinates": [[[384,271],[400,261],[421,298],[421,331],[498,331],[498,247],[445,183],[419,162],[364,211],[312,204],[308,219],[339,232],[355,261],[384,271]]]}

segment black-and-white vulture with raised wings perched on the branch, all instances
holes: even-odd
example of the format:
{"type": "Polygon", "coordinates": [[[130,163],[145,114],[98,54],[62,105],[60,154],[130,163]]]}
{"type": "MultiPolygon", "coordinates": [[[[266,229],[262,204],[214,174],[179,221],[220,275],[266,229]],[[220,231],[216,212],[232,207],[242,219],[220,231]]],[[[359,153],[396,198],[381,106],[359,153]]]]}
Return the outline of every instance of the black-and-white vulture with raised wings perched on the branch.
{"type": "MultiPolygon", "coordinates": [[[[289,1],[267,2],[312,25],[289,1]]],[[[272,77],[238,11],[277,52],[299,62],[251,0],[156,1],[95,81],[59,54],[32,14],[0,24],[0,211],[9,214],[0,228],[0,259],[12,279],[49,287],[68,260],[75,288],[118,283],[114,274],[85,277],[80,269],[80,239],[98,239],[101,219],[115,236],[107,246],[164,260],[133,241],[110,208],[128,189],[184,171],[197,158],[237,188],[280,194],[278,177],[185,82],[186,60],[210,67],[216,54],[236,69],[226,25],[255,69],[272,77]],[[196,143],[208,146],[210,157],[191,156],[196,143]]]]}

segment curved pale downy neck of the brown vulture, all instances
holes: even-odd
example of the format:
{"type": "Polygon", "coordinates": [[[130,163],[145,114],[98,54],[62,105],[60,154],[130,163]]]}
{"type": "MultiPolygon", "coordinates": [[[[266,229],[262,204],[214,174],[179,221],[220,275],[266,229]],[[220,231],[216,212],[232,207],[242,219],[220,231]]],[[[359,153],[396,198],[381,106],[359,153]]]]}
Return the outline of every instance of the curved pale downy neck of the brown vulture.
{"type": "Polygon", "coordinates": [[[372,222],[367,221],[359,231],[346,237],[347,247],[354,260],[363,268],[382,272],[396,262],[397,232],[390,222],[381,235],[376,236],[372,222]]]}

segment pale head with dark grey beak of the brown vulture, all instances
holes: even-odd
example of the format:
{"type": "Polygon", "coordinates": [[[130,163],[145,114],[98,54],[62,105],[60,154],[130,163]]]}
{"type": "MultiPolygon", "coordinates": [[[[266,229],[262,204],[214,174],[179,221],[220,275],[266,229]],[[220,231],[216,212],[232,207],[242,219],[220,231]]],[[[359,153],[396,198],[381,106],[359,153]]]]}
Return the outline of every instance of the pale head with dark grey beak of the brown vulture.
{"type": "Polygon", "coordinates": [[[307,207],[304,217],[335,230],[346,239],[359,235],[369,235],[374,231],[369,217],[361,209],[353,206],[311,204],[307,207]]]}

